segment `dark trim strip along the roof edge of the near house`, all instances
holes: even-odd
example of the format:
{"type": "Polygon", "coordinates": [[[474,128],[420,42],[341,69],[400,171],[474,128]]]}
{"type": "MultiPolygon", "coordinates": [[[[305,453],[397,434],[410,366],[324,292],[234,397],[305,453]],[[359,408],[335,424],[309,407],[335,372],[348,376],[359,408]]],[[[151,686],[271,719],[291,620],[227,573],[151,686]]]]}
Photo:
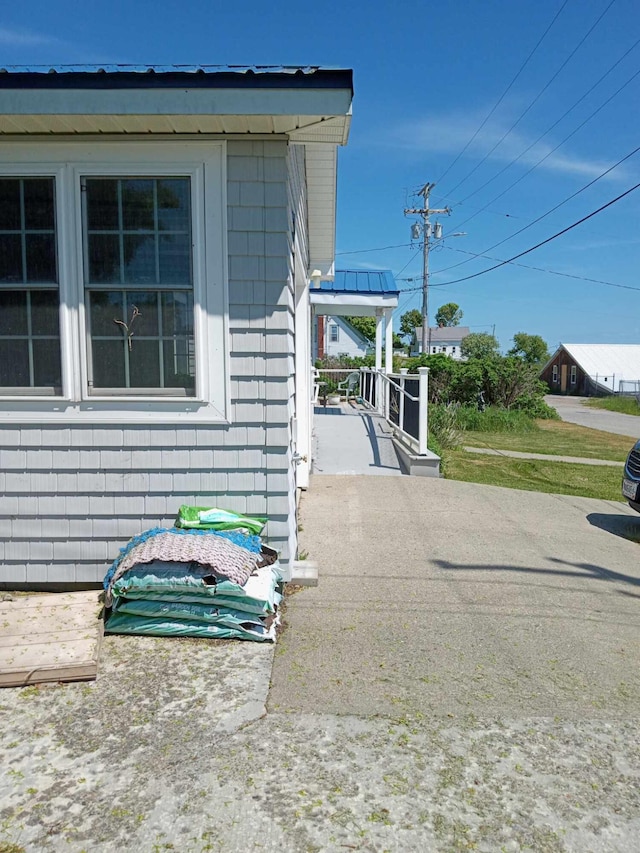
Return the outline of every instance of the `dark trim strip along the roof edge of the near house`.
{"type": "Polygon", "coordinates": [[[350,89],[353,71],[316,66],[10,65],[1,89],[350,89]]]}

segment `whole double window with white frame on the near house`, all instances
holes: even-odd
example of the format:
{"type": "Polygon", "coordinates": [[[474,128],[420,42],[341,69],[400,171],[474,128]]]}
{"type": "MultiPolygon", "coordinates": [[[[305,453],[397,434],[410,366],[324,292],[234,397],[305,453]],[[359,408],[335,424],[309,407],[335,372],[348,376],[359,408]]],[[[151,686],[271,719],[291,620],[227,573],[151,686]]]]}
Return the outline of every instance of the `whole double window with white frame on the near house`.
{"type": "Polygon", "coordinates": [[[227,422],[225,144],[0,146],[0,418],[227,422]]]}

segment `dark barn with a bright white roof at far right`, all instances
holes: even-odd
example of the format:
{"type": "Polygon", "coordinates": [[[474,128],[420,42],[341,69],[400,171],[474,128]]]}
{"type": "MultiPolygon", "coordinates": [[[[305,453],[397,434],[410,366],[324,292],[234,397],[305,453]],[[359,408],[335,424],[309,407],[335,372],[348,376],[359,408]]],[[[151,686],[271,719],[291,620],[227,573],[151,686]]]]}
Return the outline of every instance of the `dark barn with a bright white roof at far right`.
{"type": "Polygon", "coordinates": [[[553,394],[640,392],[640,344],[560,344],[540,378],[553,394]]]}

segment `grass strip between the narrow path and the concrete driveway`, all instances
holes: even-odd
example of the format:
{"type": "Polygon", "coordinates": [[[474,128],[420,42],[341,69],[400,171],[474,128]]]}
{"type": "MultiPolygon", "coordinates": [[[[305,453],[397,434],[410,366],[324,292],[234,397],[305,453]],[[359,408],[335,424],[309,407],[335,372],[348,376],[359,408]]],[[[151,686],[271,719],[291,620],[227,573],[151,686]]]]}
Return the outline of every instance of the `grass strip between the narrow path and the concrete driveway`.
{"type": "Polygon", "coordinates": [[[617,468],[605,466],[478,456],[464,450],[447,453],[449,480],[485,483],[529,492],[578,495],[624,503],[620,492],[621,475],[622,472],[617,468]]]}

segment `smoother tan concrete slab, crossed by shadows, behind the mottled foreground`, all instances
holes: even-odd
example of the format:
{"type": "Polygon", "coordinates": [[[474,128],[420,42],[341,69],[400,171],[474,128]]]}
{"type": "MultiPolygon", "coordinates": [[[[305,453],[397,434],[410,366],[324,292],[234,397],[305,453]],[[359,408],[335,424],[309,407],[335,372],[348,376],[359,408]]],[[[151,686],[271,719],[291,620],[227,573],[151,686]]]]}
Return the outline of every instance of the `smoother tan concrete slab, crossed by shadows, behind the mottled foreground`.
{"type": "Polygon", "coordinates": [[[269,708],[568,719],[640,708],[626,504],[419,477],[314,477],[269,708]]]}

